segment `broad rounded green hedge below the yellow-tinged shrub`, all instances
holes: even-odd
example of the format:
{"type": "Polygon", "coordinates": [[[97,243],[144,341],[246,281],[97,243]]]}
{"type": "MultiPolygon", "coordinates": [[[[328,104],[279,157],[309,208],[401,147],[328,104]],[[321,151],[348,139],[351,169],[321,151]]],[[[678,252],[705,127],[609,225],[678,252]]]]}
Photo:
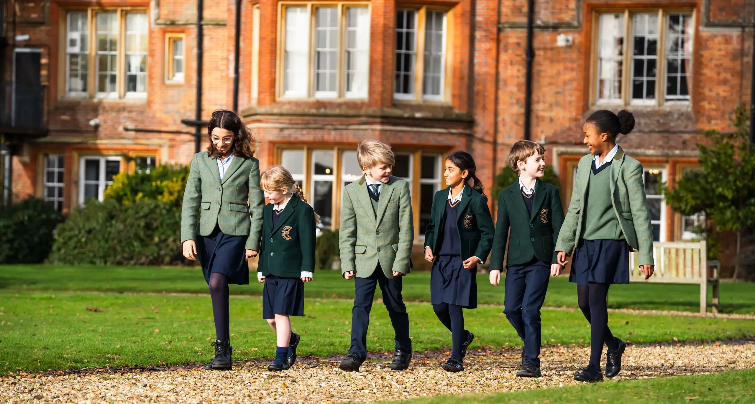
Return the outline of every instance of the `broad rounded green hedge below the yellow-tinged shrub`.
{"type": "Polygon", "coordinates": [[[159,200],[88,201],[55,232],[53,264],[181,265],[180,210],[159,200]]]}

